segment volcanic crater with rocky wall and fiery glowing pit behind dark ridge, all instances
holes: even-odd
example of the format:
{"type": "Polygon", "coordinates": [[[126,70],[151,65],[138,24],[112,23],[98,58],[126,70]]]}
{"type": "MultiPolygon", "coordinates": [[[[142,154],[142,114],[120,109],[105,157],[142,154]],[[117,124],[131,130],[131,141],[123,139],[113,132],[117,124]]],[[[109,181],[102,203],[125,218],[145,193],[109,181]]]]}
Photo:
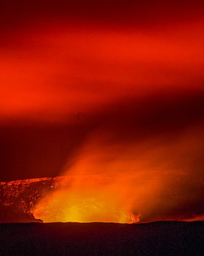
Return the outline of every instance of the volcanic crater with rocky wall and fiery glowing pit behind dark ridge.
{"type": "Polygon", "coordinates": [[[0,223],[202,220],[186,206],[200,194],[178,189],[185,179],[182,171],[151,170],[1,182],[0,223]]]}

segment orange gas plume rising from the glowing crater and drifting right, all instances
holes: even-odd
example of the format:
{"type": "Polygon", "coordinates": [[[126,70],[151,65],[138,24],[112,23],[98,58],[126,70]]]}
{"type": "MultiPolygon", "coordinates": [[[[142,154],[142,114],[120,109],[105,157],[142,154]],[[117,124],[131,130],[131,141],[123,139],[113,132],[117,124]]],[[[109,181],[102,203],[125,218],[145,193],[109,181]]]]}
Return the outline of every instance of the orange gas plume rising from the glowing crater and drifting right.
{"type": "Polygon", "coordinates": [[[183,161],[191,154],[189,146],[200,152],[201,128],[186,129],[187,135],[177,134],[174,141],[158,135],[137,144],[116,143],[108,131],[92,133],[66,172],[73,180],[42,199],[33,208],[34,217],[45,222],[202,220],[202,182],[191,180],[199,174],[173,169],[178,162],[189,166],[183,161]]]}

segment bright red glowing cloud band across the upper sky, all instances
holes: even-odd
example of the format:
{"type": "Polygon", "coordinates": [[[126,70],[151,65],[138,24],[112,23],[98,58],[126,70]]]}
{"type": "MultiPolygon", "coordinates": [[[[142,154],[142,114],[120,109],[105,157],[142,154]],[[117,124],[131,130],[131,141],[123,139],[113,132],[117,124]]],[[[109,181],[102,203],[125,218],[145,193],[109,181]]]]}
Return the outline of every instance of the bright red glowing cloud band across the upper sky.
{"type": "Polygon", "coordinates": [[[19,31],[12,48],[1,53],[0,115],[62,121],[82,109],[93,112],[161,88],[201,89],[201,28],[195,21],[162,31],[66,24],[58,24],[55,33],[47,24],[19,31]]]}

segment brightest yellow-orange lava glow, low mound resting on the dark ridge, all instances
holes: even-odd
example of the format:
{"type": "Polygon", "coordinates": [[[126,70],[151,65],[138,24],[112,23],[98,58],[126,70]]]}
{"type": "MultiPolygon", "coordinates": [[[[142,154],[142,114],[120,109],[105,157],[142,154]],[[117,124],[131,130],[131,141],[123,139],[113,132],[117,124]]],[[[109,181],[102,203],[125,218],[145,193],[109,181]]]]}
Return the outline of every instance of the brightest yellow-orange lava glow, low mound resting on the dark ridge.
{"type": "Polygon", "coordinates": [[[35,218],[44,222],[119,222],[134,223],[139,217],[118,205],[108,202],[106,198],[98,198],[83,195],[69,194],[66,192],[56,193],[53,200],[48,204],[40,203],[34,211],[35,218]],[[63,197],[62,201],[58,200],[63,197]]]}

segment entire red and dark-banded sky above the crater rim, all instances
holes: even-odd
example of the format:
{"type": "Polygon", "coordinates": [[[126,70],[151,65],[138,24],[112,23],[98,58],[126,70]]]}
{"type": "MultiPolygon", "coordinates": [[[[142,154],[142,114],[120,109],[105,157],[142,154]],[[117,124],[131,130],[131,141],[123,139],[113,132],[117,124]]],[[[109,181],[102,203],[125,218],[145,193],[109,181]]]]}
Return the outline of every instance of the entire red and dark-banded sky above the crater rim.
{"type": "Polygon", "coordinates": [[[202,1],[1,5],[0,180],[57,176],[84,154],[98,166],[109,152],[135,171],[184,170],[178,186],[198,183],[203,213],[202,1]]]}

